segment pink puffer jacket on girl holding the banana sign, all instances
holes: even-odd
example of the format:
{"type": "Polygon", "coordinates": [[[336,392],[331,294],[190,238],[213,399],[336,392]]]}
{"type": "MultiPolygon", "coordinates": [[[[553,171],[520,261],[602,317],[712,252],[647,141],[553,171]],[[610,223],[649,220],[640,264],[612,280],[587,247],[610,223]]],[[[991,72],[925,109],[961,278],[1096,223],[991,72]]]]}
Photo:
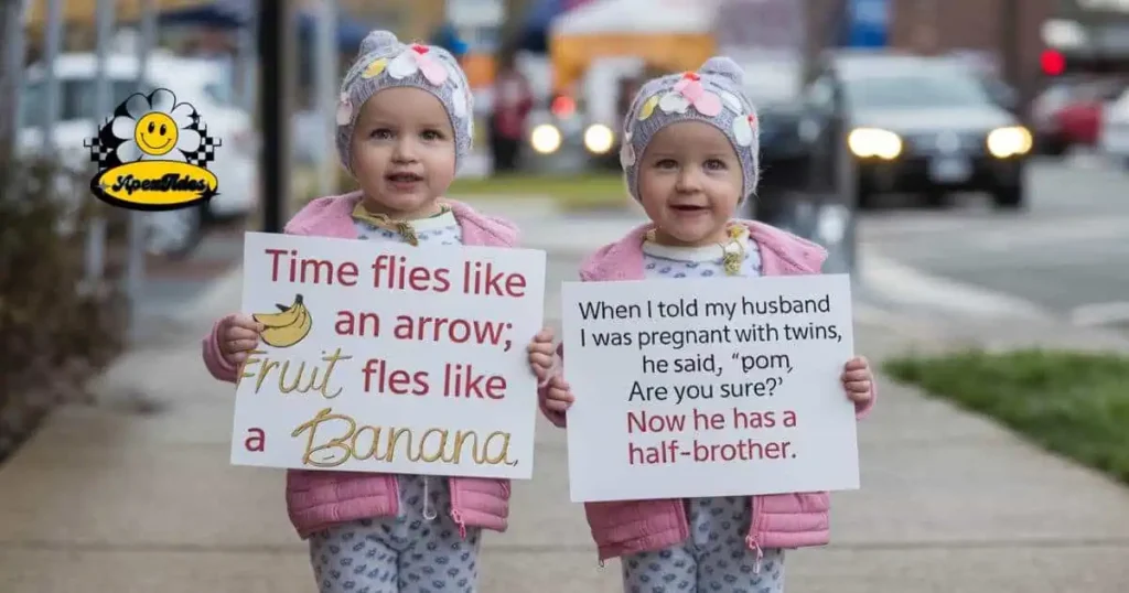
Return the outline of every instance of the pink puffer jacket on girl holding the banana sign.
{"type": "MultiPolygon", "coordinates": [[[[286,233],[323,237],[357,238],[352,211],[360,193],[318,198],[301,209],[286,233]]],[[[475,212],[469,206],[448,201],[466,245],[511,247],[517,229],[508,221],[475,212]]],[[[234,383],[238,369],[220,355],[217,330],[203,339],[208,370],[220,381],[234,383]]],[[[509,516],[509,480],[450,478],[450,516],[465,535],[467,526],[506,531],[509,516]]],[[[380,473],[288,470],[287,512],[298,535],[306,539],[338,523],[395,515],[399,482],[380,473]]]]}

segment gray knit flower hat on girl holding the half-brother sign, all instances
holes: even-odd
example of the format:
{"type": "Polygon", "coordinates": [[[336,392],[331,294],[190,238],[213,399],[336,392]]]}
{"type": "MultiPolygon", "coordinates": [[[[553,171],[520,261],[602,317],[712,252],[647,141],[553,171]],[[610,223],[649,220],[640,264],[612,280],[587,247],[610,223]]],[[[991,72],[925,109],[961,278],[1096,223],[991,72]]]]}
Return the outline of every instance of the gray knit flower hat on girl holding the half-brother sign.
{"type": "Polygon", "coordinates": [[[639,199],[637,168],[647,145],[663,128],[682,121],[716,127],[737,152],[744,173],[742,200],[756,190],[760,176],[760,125],[756,110],[742,93],[744,71],[728,58],[710,58],[697,72],[667,75],[639,89],[623,121],[620,164],[628,191],[639,199]]]}

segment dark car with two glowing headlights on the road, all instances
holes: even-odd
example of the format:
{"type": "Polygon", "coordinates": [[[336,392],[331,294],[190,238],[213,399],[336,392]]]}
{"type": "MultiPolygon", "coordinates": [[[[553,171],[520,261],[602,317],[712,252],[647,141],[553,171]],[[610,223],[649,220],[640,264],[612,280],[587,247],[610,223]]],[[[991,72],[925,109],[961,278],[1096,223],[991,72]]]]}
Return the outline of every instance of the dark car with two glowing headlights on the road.
{"type": "Polygon", "coordinates": [[[961,191],[986,191],[1001,208],[1024,204],[1031,132],[966,66],[833,53],[805,103],[811,151],[858,208],[881,193],[918,193],[942,206],[961,191]]]}

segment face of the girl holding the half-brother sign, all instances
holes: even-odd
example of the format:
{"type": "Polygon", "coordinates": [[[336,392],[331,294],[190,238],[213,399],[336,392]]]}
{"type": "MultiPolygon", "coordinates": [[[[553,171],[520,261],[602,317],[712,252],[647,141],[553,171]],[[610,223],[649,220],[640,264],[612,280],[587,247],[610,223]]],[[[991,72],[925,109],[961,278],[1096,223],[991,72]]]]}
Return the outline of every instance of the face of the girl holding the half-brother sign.
{"type": "Polygon", "coordinates": [[[639,197],[657,239],[700,246],[724,242],[742,191],[741,160],[717,128],[677,122],[655,134],[639,163],[639,197]]]}

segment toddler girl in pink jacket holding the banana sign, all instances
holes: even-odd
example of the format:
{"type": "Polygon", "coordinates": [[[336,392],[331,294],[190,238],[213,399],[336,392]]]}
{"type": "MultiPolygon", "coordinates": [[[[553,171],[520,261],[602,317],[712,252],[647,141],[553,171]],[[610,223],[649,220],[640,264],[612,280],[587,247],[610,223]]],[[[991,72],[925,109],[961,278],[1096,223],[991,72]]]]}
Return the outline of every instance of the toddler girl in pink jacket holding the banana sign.
{"type": "MultiPolygon", "coordinates": [[[[286,232],[421,248],[514,246],[510,224],[440,198],[471,146],[472,116],[450,54],[370,33],[336,112],[338,154],[360,191],[314,200],[286,232]]],[[[203,340],[211,374],[235,382],[261,330],[242,314],[219,320],[203,340]]],[[[286,496],[322,593],[472,592],[480,530],[506,530],[509,482],[290,470],[286,496]]]]}

